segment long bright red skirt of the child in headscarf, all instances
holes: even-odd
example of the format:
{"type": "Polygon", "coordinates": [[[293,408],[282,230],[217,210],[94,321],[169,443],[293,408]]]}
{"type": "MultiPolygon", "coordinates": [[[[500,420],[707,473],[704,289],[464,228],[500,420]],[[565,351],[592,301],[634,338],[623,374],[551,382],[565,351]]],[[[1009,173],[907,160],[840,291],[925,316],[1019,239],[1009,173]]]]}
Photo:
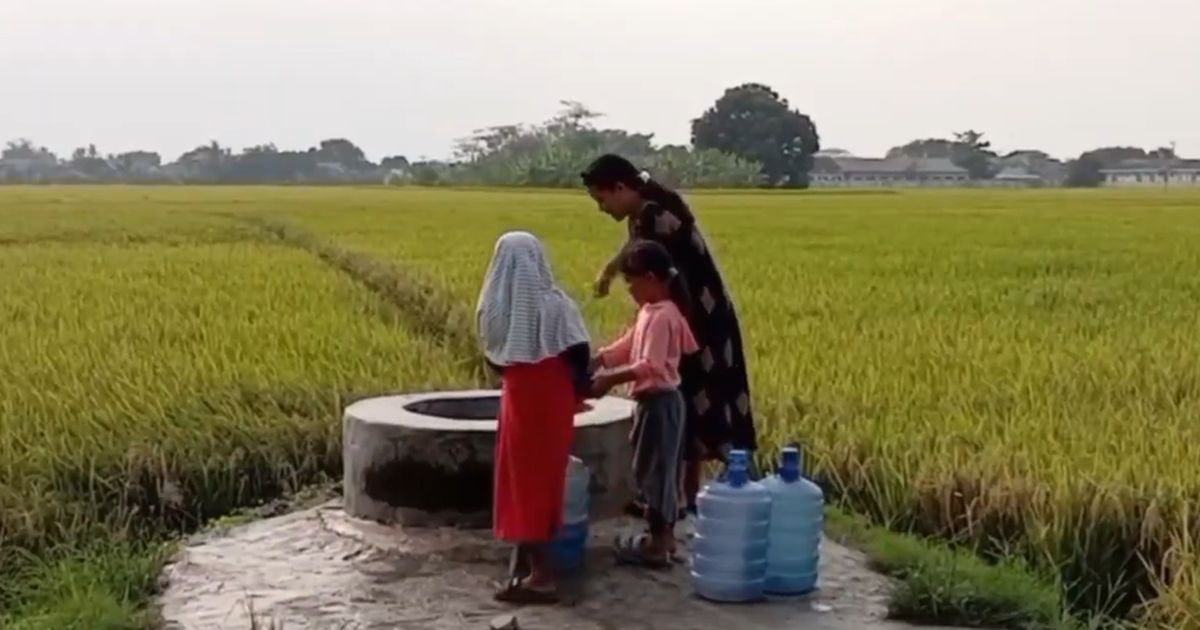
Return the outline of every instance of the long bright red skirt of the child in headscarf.
{"type": "Polygon", "coordinates": [[[493,530],[509,542],[545,542],[563,521],[575,388],[553,356],[504,368],[496,434],[493,530]]]}

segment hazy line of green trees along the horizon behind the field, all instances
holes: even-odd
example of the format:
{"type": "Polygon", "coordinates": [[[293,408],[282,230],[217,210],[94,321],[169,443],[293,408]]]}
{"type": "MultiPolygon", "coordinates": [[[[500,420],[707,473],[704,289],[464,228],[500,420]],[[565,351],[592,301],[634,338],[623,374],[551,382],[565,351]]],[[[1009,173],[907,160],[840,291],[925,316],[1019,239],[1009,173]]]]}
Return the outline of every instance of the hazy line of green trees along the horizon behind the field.
{"type": "MultiPolygon", "coordinates": [[[[564,101],[535,125],[498,125],[455,143],[450,160],[372,162],[346,138],[305,150],[274,144],[233,151],[218,142],[164,162],[154,151],[101,154],[95,145],[60,157],[28,139],[0,152],[0,184],[389,184],[421,186],[575,186],[581,168],[605,152],[642,164],[664,182],[683,187],[805,187],[821,140],[812,119],[767,85],[746,83],[725,92],[691,121],[690,145],[658,145],[652,133],[598,126],[601,114],[564,101]]],[[[973,180],[996,176],[1016,154],[1062,167],[1068,186],[1098,186],[1100,170],[1128,158],[1153,158],[1170,149],[1104,148],[1063,164],[1043,151],[1000,156],[982,132],[917,139],[887,157],[948,158],[973,180]]],[[[1174,157],[1174,152],[1171,154],[1174,157]]]]}

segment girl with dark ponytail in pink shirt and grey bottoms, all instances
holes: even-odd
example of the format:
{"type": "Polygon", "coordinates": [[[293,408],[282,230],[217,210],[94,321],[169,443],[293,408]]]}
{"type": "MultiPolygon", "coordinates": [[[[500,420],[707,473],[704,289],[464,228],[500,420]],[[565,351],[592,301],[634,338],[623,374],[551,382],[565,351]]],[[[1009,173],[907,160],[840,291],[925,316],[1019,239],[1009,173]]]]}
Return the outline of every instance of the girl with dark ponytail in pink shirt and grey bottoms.
{"type": "Polygon", "coordinates": [[[654,241],[630,244],[622,274],[637,302],[637,322],[613,344],[600,350],[594,394],[605,395],[631,383],[637,409],[630,440],[634,479],[646,498],[649,538],[617,540],[618,559],[646,566],[668,566],[679,514],[679,466],[683,462],[686,407],[679,394],[679,360],[698,352],[679,305],[689,304],[686,286],[666,248],[654,241]]]}

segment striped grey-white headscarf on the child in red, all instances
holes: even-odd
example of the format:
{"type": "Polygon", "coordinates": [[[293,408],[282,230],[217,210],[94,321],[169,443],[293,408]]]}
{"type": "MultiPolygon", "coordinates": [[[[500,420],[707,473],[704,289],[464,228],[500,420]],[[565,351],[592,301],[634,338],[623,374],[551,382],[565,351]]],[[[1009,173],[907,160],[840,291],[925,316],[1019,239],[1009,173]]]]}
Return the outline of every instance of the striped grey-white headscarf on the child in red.
{"type": "Polygon", "coordinates": [[[498,366],[535,364],[590,341],[578,306],[554,283],[545,247],[528,232],[496,241],[475,308],[484,354],[498,366]]]}

